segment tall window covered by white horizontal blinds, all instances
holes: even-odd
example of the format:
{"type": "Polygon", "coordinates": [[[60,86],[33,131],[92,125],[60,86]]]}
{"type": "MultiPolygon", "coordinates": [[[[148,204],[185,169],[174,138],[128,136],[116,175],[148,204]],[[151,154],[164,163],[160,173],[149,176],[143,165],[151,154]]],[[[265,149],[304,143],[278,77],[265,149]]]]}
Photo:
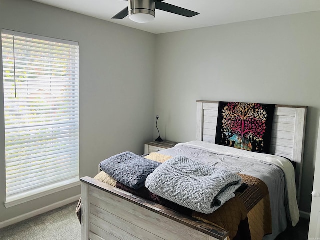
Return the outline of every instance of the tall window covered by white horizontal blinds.
{"type": "Polygon", "coordinates": [[[78,51],[2,30],[6,207],[79,184],[78,51]]]}

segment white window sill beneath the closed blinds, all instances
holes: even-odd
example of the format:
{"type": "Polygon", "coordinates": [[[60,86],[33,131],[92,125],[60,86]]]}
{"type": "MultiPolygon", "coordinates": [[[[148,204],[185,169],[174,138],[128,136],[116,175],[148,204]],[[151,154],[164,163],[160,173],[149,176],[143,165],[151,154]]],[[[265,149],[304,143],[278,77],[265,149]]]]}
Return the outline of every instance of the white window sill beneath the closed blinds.
{"type": "Polygon", "coordinates": [[[50,186],[50,188],[48,186],[39,188],[39,189],[35,189],[34,191],[30,191],[28,193],[23,193],[20,195],[15,195],[15,196],[11,196],[8,197],[6,199],[6,201],[4,202],[4,206],[6,208],[12,207],[12,206],[16,206],[28,201],[32,201],[34,199],[43,197],[43,196],[47,196],[62,190],[66,190],[75,186],[79,186],[80,185],[80,181],[79,178],[74,178],[74,179],[70,179],[70,180],[66,180],[63,182],[59,182],[58,184],[54,185],[54,186],[50,186]],[[47,190],[45,190],[45,188],[47,188],[47,190]]]}

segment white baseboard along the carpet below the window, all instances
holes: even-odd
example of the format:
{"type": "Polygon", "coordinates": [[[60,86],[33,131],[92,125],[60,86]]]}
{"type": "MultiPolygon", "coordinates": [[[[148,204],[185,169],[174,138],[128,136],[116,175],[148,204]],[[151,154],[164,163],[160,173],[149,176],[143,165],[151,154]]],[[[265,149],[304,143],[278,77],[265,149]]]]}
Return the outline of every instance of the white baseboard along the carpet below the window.
{"type": "Polygon", "coordinates": [[[16,217],[13,217],[11,219],[2,221],[2,222],[0,222],[0,229],[3,228],[3,227],[6,227],[6,226],[12,225],[14,223],[23,221],[25,219],[31,218],[33,216],[42,214],[44,212],[51,211],[53,209],[56,209],[56,208],[59,208],[61,206],[67,205],[69,203],[75,202],[75,201],[79,200],[80,196],[81,196],[80,194],[76,195],[76,196],[72,196],[72,197],[67,198],[67,199],[65,199],[63,201],[58,201],[56,203],[53,203],[51,205],[42,207],[40,209],[37,209],[37,210],[31,211],[31,212],[25,213],[23,215],[16,216],[16,217]]]}

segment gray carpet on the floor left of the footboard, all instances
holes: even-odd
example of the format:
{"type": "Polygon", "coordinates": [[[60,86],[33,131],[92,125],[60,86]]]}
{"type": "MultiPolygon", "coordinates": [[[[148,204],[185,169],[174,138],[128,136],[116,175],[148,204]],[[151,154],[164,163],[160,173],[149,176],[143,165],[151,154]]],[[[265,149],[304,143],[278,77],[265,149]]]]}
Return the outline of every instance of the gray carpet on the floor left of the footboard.
{"type": "Polygon", "coordinates": [[[80,240],[77,202],[0,229],[0,240],[80,240]]]}

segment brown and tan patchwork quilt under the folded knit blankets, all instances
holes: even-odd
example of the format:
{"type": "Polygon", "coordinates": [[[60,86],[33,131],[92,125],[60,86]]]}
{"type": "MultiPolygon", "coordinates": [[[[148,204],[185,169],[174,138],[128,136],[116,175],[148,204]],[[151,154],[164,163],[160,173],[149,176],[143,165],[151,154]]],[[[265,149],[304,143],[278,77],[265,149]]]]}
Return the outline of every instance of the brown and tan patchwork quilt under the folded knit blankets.
{"type": "MultiPolygon", "coordinates": [[[[162,163],[170,159],[171,156],[151,153],[145,158],[162,163]]],[[[146,187],[139,189],[127,187],[103,171],[98,173],[94,179],[159,203],[180,213],[190,215],[208,224],[223,228],[229,231],[230,240],[261,240],[265,234],[272,232],[268,188],[263,181],[256,177],[244,174],[239,174],[239,176],[242,178],[243,183],[235,192],[235,197],[210,214],[190,210],[168,201],[153,194],[146,187]]],[[[81,199],[76,208],[76,214],[81,222],[81,199]]]]}

